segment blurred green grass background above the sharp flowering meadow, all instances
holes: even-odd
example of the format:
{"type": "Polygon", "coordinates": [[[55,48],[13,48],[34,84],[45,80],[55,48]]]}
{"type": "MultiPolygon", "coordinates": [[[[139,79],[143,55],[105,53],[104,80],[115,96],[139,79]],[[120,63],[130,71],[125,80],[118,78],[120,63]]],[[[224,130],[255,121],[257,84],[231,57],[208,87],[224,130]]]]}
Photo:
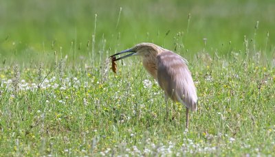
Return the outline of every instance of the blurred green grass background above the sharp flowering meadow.
{"type": "Polygon", "coordinates": [[[273,0],[0,0],[0,61],[46,62],[54,51],[77,61],[92,49],[107,56],[141,42],[190,59],[203,49],[242,53],[244,36],[249,47],[273,56],[274,14],[273,0]]]}

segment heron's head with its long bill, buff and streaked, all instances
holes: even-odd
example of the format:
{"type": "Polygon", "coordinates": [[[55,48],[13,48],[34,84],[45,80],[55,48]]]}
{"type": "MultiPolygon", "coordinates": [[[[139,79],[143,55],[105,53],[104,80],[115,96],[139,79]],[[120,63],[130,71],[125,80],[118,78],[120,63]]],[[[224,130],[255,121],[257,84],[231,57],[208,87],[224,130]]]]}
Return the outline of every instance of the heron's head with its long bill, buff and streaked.
{"type": "Polygon", "coordinates": [[[130,56],[141,56],[142,58],[148,58],[148,57],[157,56],[157,54],[160,53],[162,50],[164,50],[162,47],[159,47],[152,43],[140,43],[140,44],[135,45],[131,49],[125,49],[124,51],[115,53],[110,57],[117,56],[122,53],[129,53],[126,56],[122,56],[120,58],[115,59],[115,61],[122,60],[123,58],[127,58],[130,56]]]}

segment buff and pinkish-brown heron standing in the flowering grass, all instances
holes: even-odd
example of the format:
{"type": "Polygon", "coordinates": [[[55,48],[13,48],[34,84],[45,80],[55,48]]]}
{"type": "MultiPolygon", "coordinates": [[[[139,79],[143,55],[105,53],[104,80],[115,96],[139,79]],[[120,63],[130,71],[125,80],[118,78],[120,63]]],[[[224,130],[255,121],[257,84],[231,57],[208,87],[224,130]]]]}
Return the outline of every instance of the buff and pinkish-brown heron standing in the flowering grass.
{"type": "Polygon", "coordinates": [[[186,106],[186,128],[188,128],[189,110],[197,110],[197,93],[192,75],[187,67],[188,62],[173,51],[152,43],[140,43],[110,57],[113,58],[113,56],[122,53],[129,54],[114,61],[130,56],[141,56],[144,68],[157,80],[159,86],[164,90],[166,99],[170,97],[173,101],[186,106]]]}

